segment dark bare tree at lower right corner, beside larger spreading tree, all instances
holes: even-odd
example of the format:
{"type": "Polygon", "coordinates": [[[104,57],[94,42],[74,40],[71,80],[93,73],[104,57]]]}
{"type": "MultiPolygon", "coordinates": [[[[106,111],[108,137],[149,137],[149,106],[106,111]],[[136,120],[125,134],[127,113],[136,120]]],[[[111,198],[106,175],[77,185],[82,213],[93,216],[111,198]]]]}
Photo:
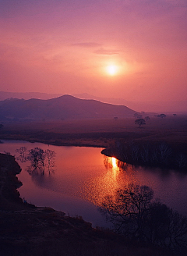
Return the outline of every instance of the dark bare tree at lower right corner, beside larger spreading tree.
{"type": "Polygon", "coordinates": [[[171,248],[186,246],[187,219],[166,204],[160,201],[150,204],[146,223],[151,244],[171,248]]]}

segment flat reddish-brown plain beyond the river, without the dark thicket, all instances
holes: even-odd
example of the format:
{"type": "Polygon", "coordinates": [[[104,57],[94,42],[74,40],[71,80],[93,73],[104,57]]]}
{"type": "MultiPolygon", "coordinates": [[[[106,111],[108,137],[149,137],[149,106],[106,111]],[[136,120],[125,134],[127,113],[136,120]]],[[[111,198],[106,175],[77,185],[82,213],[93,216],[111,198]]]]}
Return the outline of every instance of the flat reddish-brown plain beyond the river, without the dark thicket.
{"type": "Polygon", "coordinates": [[[72,119],[30,123],[4,123],[0,139],[40,141],[47,144],[108,148],[125,142],[165,141],[187,144],[187,116],[151,118],[139,128],[135,119],[72,119]]]}

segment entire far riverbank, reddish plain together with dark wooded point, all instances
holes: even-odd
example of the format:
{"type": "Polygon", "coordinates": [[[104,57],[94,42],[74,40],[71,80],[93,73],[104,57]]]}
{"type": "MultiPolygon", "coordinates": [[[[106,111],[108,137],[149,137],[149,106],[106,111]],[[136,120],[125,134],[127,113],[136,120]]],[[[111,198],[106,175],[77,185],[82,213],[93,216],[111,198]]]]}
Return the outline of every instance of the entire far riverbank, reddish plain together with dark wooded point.
{"type": "Polygon", "coordinates": [[[185,170],[187,116],[152,117],[139,128],[129,119],[5,123],[0,139],[106,148],[104,155],[150,167],[185,170]]]}

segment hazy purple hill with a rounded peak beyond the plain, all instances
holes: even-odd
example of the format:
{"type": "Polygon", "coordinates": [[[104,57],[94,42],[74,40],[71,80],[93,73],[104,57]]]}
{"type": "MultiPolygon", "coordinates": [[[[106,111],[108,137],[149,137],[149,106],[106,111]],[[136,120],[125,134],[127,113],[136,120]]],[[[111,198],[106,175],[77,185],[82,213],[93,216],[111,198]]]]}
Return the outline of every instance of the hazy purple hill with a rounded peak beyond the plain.
{"type": "Polygon", "coordinates": [[[7,99],[0,101],[1,120],[92,119],[132,117],[135,111],[124,105],[111,105],[63,95],[48,100],[7,99]]]}

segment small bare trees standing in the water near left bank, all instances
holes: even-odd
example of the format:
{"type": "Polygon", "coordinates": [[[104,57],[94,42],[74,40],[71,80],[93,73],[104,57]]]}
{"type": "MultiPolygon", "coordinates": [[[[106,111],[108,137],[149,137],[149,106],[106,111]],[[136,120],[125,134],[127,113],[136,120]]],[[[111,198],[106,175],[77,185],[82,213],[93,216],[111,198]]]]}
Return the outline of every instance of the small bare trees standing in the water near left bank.
{"type": "Polygon", "coordinates": [[[26,147],[16,149],[19,154],[17,160],[21,162],[30,162],[30,166],[27,171],[31,174],[34,172],[41,172],[44,174],[45,169],[50,173],[55,166],[55,151],[49,149],[43,150],[42,148],[32,148],[29,151],[26,147]]]}

